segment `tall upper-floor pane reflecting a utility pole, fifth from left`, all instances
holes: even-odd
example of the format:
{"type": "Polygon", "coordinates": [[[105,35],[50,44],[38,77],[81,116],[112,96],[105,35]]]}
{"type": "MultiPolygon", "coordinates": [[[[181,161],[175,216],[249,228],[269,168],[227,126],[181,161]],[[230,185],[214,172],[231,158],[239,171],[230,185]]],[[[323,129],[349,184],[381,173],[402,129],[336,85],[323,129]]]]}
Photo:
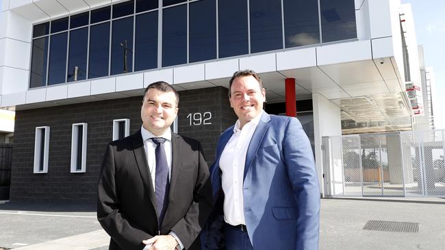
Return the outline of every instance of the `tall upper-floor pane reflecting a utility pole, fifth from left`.
{"type": "Polygon", "coordinates": [[[114,20],[111,74],[133,71],[133,16],[114,20]]]}

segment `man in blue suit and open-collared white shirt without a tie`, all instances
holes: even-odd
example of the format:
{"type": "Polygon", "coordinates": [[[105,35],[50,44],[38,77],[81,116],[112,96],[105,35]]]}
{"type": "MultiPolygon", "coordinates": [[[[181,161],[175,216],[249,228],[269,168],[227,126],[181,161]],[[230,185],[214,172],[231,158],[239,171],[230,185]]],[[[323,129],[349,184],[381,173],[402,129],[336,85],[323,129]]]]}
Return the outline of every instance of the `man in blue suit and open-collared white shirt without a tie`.
{"type": "Polygon", "coordinates": [[[295,117],[263,111],[252,70],[235,72],[229,101],[238,121],[220,136],[210,168],[214,210],[203,249],[318,249],[320,191],[312,148],[295,117]]]}

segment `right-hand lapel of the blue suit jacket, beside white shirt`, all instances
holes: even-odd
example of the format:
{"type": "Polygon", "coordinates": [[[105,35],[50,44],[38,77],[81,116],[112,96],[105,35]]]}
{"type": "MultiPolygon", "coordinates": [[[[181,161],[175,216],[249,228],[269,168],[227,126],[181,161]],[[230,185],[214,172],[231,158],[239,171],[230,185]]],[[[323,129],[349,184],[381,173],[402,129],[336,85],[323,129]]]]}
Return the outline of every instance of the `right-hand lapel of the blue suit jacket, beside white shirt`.
{"type": "Polygon", "coordinates": [[[269,126],[270,126],[270,115],[264,112],[261,116],[261,119],[259,119],[255,132],[253,132],[251,143],[249,143],[249,148],[247,148],[246,164],[244,165],[243,180],[246,178],[247,172],[249,171],[249,168],[252,165],[253,159],[257,155],[259,145],[263,141],[264,135],[266,134],[266,131],[269,126]]]}

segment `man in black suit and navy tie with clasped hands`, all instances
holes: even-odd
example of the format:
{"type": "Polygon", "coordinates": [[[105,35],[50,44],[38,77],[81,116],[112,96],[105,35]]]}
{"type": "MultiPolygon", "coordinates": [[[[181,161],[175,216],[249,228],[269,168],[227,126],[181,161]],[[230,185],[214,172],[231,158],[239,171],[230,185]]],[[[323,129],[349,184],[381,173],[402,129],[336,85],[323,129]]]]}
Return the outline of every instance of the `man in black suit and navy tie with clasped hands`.
{"type": "Polygon", "coordinates": [[[111,236],[110,249],[200,249],[212,187],[201,143],[170,131],[178,102],[168,83],[152,83],[140,130],[107,146],[97,219],[111,236]]]}

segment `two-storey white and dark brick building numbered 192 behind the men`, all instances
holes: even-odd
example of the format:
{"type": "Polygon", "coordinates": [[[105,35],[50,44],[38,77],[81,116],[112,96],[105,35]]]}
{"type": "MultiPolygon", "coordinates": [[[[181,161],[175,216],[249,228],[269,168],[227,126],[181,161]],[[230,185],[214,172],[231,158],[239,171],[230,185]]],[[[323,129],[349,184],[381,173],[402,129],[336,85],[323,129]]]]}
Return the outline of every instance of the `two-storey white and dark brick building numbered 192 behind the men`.
{"type": "Polygon", "coordinates": [[[405,81],[420,83],[420,66],[400,1],[0,3],[0,102],[16,112],[11,200],[94,202],[105,145],[140,128],[154,81],[179,91],[173,130],[199,139],[212,163],[236,121],[231,75],[259,72],[268,113],[296,99],[320,186],[322,136],[413,128],[405,81]]]}

